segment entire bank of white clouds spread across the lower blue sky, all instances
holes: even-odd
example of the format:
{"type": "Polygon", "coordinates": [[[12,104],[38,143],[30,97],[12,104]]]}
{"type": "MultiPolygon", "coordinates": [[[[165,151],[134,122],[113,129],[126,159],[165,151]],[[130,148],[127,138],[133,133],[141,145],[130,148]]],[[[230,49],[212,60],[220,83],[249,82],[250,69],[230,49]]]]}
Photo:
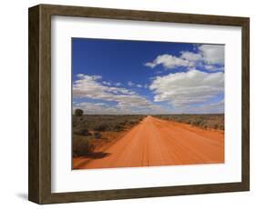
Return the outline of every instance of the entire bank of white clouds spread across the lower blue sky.
{"type": "Polygon", "coordinates": [[[82,98],[78,100],[82,102],[74,103],[74,108],[86,114],[224,112],[224,45],[196,45],[191,52],[157,55],[145,65],[164,69],[143,85],[134,80],[121,84],[103,80],[101,75],[78,74],[73,97],[82,98]],[[138,95],[135,90],[146,94],[138,95]]]}

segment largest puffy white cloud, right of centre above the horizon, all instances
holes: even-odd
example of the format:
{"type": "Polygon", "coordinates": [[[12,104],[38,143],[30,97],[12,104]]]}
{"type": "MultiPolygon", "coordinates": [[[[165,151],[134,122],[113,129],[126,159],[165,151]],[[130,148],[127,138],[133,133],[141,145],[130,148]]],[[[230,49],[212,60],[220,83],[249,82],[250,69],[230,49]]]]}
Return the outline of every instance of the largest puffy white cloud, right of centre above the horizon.
{"type": "Polygon", "coordinates": [[[186,73],[157,76],[149,89],[155,94],[155,102],[167,101],[175,107],[202,104],[223,93],[224,74],[192,69],[186,73]]]}

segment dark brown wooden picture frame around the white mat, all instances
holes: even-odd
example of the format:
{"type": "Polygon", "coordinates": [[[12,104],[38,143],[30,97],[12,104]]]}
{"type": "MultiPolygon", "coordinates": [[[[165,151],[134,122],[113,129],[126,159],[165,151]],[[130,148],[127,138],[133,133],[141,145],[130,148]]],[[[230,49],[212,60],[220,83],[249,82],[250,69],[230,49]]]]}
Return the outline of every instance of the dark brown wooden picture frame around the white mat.
{"type": "MultiPolygon", "coordinates": [[[[29,8],[29,169],[28,199],[56,204],[127,198],[210,194],[250,190],[250,19],[67,5],[29,8]],[[197,184],[92,192],[51,193],[51,16],[79,16],[169,23],[232,25],[242,31],[241,183],[197,184]]],[[[86,189],[86,188],[85,188],[86,189]]]]}

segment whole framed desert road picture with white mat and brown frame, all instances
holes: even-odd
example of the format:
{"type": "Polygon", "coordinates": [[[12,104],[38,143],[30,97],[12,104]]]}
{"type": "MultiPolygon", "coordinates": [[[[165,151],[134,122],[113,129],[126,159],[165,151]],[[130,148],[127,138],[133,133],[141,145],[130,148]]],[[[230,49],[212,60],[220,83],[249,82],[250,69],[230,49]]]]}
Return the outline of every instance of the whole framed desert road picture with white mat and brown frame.
{"type": "Polygon", "coordinates": [[[249,26],[29,8],[29,200],[249,191],[249,26]]]}

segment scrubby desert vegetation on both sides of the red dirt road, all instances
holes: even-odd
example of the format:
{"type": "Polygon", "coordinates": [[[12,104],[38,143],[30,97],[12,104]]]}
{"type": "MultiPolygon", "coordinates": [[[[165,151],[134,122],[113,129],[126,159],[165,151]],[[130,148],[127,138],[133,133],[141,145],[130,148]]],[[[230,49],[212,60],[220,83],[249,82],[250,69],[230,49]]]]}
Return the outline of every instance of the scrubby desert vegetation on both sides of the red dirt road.
{"type": "MultiPolygon", "coordinates": [[[[224,114],[154,114],[162,120],[198,126],[203,129],[224,130],[224,114]]],[[[124,132],[141,122],[142,114],[73,114],[73,156],[90,157],[97,148],[118,140],[124,132]]]]}

